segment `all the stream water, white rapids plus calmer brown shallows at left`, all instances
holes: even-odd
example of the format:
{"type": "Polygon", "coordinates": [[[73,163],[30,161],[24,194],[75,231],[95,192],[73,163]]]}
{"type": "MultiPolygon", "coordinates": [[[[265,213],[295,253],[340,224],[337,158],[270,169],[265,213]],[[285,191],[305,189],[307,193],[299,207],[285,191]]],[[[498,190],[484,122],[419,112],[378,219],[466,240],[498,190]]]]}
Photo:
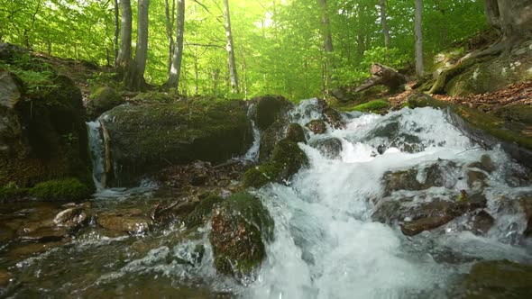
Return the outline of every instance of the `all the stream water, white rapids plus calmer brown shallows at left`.
{"type": "MultiPolygon", "coordinates": [[[[316,100],[290,112],[292,122],[321,118],[316,100]]],[[[216,275],[205,228],[183,239],[183,228],[170,225],[145,235],[107,236],[87,228],[67,244],[27,258],[0,258],[17,286],[10,295],[40,297],[243,297],[243,298],[446,298],[463,294],[461,275],[478,260],[507,258],[532,262],[532,246],[523,238],[524,214],[517,199],[532,193],[525,171],[499,148],[482,149],[431,108],[403,109],[387,115],[344,115],[345,129],[326,134],[307,131],[308,144],[335,138],[342,149],[318,150],[300,144],[309,166],[288,186],[272,184],[256,190],[275,220],[275,238],[254,281],[242,285],[216,275]],[[333,152],[332,152],[333,151],[333,152]],[[489,155],[495,170],[486,186],[468,186],[468,165],[489,155]],[[441,186],[422,191],[386,193],[388,171],[427,168],[452,161],[441,186]],[[521,176],[522,177],[522,176],[521,176]],[[474,190],[473,190],[474,189],[474,190]],[[373,222],[378,199],[411,198],[413,203],[482,192],[495,222],[485,235],[467,230],[458,217],[415,237],[399,226],[373,222]],[[203,245],[200,253],[197,246],[203,245]]],[[[97,127],[97,126],[96,126],[97,127]]],[[[92,129],[93,125],[89,124],[92,129]]],[[[92,134],[91,136],[97,136],[92,134]]],[[[255,131],[258,139],[260,136],[255,131]]],[[[244,158],[256,159],[258,140],[244,158]]],[[[91,149],[102,152],[101,143],[91,149]]],[[[97,165],[102,162],[96,159],[97,165]]],[[[449,165],[449,164],[447,164],[449,165]]],[[[482,171],[479,169],[479,171],[482,171]]],[[[100,192],[96,210],[152,206],[173,195],[153,187],[100,192]]],[[[405,219],[405,222],[408,220],[405,219]]],[[[0,256],[1,257],[1,256],[0,256]]],[[[1,295],[1,293],[0,293],[1,295]]]]}

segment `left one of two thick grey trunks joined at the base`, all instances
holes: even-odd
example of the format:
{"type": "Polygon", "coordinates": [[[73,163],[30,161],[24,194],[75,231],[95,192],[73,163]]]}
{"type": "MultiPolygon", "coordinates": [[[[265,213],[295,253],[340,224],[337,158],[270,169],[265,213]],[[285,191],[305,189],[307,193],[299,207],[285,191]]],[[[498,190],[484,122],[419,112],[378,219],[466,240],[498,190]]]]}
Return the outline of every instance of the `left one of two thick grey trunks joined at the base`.
{"type": "Polygon", "coordinates": [[[122,79],[126,69],[131,64],[132,14],[130,0],[121,0],[120,7],[122,8],[120,50],[115,61],[115,68],[119,79],[122,79]]]}

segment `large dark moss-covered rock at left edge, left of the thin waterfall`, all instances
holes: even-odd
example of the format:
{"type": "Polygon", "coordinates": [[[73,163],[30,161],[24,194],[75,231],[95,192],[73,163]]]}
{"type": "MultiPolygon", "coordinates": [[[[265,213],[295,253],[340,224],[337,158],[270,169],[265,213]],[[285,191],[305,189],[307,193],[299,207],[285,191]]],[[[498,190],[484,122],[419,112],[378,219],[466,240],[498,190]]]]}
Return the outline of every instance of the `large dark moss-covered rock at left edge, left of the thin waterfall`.
{"type": "Polygon", "coordinates": [[[31,70],[50,82],[35,89],[41,83],[22,77],[20,101],[9,111],[5,107],[0,111],[0,119],[9,120],[10,131],[1,147],[6,150],[0,150],[0,186],[13,182],[25,188],[61,177],[78,177],[91,185],[86,113],[79,88],[39,59],[20,61],[15,59],[13,68],[21,73],[31,70]],[[9,117],[4,118],[4,113],[9,117]]]}

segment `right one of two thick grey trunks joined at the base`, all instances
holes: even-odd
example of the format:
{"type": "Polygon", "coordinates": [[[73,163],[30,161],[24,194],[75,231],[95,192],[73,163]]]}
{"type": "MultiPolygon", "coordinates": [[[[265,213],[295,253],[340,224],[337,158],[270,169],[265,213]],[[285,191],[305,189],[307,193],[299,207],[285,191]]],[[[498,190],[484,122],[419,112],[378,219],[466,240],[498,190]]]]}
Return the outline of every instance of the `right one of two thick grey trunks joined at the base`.
{"type": "Polygon", "coordinates": [[[149,7],[150,0],[139,0],[135,59],[130,68],[127,69],[125,76],[125,86],[129,90],[142,90],[146,85],[144,71],[146,70],[146,59],[148,58],[149,7]]]}

